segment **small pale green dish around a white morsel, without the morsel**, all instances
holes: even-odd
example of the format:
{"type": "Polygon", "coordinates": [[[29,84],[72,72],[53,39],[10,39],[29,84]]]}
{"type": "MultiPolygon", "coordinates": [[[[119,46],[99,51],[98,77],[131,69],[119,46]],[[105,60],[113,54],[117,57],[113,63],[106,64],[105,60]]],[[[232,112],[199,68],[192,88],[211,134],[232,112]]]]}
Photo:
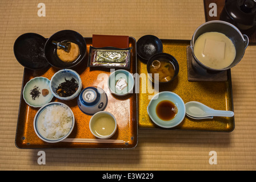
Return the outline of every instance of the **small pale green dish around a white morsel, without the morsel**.
{"type": "Polygon", "coordinates": [[[117,96],[126,96],[129,93],[133,93],[134,77],[128,71],[124,69],[118,69],[117,71],[114,71],[110,74],[107,85],[109,86],[111,93],[117,96]],[[118,90],[117,88],[115,88],[115,84],[120,78],[124,78],[127,82],[127,86],[122,90],[118,90]]]}

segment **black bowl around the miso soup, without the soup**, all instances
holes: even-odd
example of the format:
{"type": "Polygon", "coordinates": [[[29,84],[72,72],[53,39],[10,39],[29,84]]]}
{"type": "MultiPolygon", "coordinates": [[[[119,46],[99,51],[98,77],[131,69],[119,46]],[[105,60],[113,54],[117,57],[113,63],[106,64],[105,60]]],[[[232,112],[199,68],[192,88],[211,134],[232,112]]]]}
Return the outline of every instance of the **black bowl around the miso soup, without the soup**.
{"type": "MultiPolygon", "coordinates": [[[[170,61],[171,64],[173,64],[174,70],[175,70],[174,76],[173,76],[173,78],[171,78],[171,80],[169,80],[169,81],[163,81],[163,82],[159,81],[159,84],[166,84],[166,83],[168,83],[168,82],[170,82],[170,81],[173,81],[173,80],[177,77],[177,75],[178,75],[178,73],[179,73],[179,64],[178,64],[178,61],[175,59],[175,57],[169,55],[169,53],[157,53],[157,54],[155,54],[154,56],[150,57],[149,61],[147,61],[147,73],[150,73],[150,72],[149,72],[149,71],[150,71],[150,70],[149,70],[149,69],[150,69],[150,65],[153,63],[154,60],[158,60],[158,61],[162,61],[162,60],[170,61]]],[[[150,80],[151,80],[152,82],[154,82],[153,78],[152,78],[150,75],[149,75],[149,78],[150,78],[150,80]]]]}

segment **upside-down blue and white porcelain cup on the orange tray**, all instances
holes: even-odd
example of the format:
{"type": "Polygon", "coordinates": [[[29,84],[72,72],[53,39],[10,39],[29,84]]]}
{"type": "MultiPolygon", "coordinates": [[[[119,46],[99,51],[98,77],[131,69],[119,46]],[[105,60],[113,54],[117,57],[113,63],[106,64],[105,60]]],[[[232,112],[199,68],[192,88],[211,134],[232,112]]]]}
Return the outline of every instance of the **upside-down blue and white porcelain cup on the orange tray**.
{"type": "Polygon", "coordinates": [[[83,113],[93,115],[106,109],[107,94],[102,88],[89,86],[82,90],[77,102],[83,113]]]}

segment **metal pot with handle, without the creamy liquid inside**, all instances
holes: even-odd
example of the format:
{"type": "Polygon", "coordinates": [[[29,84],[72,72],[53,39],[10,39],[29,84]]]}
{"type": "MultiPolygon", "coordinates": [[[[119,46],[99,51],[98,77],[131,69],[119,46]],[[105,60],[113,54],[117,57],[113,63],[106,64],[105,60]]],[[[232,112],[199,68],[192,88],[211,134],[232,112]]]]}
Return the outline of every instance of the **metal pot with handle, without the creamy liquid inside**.
{"type": "Polygon", "coordinates": [[[249,38],[247,35],[242,34],[237,27],[235,27],[233,24],[224,22],[221,20],[213,20],[206,23],[201,24],[195,30],[192,39],[191,39],[191,49],[192,54],[195,59],[195,61],[202,67],[210,71],[224,71],[227,69],[230,69],[237,65],[241,60],[243,55],[245,54],[245,49],[247,48],[249,44],[249,38]],[[230,38],[235,46],[236,55],[233,63],[229,65],[229,67],[223,68],[223,69],[214,69],[207,67],[206,65],[202,64],[197,57],[194,55],[194,43],[197,40],[198,36],[206,33],[206,32],[220,32],[222,34],[225,34],[228,38],[230,38]]]}

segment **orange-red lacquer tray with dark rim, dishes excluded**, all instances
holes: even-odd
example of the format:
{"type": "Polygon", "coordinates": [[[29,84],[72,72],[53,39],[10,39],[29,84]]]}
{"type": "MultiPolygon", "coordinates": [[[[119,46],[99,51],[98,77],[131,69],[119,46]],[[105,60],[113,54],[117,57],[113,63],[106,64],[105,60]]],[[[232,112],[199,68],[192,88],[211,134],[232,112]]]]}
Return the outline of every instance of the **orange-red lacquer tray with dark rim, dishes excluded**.
{"type": "MultiPolygon", "coordinates": [[[[89,56],[89,48],[92,46],[92,38],[85,38],[87,44],[87,53],[85,59],[77,68],[74,69],[79,73],[82,80],[82,89],[87,86],[99,86],[107,93],[108,104],[105,111],[109,111],[117,119],[118,129],[111,139],[123,140],[122,143],[76,143],[76,142],[58,142],[47,143],[38,138],[34,131],[34,117],[39,108],[31,107],[23,100],[23,86],[31,80],[31,78],[42,76],[51,79],[58,69],[53,67],[43,71],[32,71],[24,69],[23,82],[21,90],[21,100],[19,105],[18,123],[15,138],[15,145],[18,148],[134,148],[137,146],[138,135],[138,118],[137,118],[137,94],[129,94],[124,97],[117,97],[110,93],[107,86],[107,78],[110,75],[110,68],[89,68],[87,60],[89,56]],[[103,73],[99,75],[100,73],[103,73]]],[[[129,37],[129,47],[131,49],[131,66],[128,71],[137,72],[137,51],[136,40],[129,37]]],[[[75,116],[75,126],[68,138],[91,138],[89,129],[89,121],[91,116],[83,114],[77,105],[77,98],[71,101],[62,101],[53,98],[51,102],[58,101],[68,105],[75,116]]]]}

